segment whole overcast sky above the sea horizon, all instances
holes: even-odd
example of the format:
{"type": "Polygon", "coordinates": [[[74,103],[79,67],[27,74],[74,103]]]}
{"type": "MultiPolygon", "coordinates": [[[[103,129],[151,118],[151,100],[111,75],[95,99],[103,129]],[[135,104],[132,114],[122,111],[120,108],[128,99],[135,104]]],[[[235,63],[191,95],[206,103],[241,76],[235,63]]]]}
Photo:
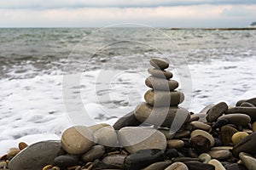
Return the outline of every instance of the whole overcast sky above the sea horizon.
{"type": "Polygon", "coordinates": [[[256,0],[0,0],[0,27],[242,27],[256,0]]]}

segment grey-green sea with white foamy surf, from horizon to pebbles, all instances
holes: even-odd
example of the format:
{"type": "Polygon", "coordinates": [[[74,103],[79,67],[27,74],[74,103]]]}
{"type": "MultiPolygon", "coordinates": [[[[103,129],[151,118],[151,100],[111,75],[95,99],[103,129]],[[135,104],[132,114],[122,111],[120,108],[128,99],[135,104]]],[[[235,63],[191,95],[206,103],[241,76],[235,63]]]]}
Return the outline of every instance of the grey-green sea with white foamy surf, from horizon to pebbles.
{"type": "Polygon", "coordinates": [[[180,106],[195,114],[256,97],[256,30],[1,28],[0,155],[73,125],[113,124],[144,101],[154,57],[169,60],[180,106]]]}

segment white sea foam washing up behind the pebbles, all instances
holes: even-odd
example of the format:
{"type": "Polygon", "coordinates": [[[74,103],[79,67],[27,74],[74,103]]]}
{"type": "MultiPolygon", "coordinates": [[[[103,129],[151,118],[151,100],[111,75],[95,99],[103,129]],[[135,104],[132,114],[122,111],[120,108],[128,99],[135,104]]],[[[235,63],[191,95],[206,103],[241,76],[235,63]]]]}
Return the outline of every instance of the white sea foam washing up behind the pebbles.
{"type": "MultiPolygon", "coordinates": [[[[189,65],[193,82],[189,111],[197,113],[212,103],[225,101],[235,105],[238,99],[256,97],[255,62],[256,57],[252,56],[236,61],[216,59],[207,65],[189,65]]],[[[108,75],[111,74],[113,72],[109,71],[108,75]]],[[[63,76],[0,80],[0,155],[20,141],[32,144],[45,139],[60,139],[61,132],[73,123],[113,124],[119,116],[143,101],[143,94],[148,89],[144,79],[148,73],[126,71],[113,75],[111,81],[104,84],[102,77],[106,75],[102,71],[83,73],[79,84],[73,84],[71,79],[65,82],[70,94],[62,92],[63,76]],[[63,98],[63,94],[67,98],[63,98]],[[80,106],[88,115],[80,112],[80,106]]],[[[178,80],[177,75],[174,79],[178,80]]]]}

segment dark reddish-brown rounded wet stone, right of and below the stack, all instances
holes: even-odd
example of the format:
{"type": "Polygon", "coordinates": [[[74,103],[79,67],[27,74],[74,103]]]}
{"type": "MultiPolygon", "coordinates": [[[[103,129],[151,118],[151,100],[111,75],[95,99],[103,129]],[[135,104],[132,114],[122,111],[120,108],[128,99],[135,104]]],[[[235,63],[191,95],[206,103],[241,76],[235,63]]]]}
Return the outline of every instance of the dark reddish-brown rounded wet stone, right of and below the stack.
{"type": "Polygon", "coordinates": [[[205,136],[197,135],[189,140],[189,144],[198,153],[204,153],[211,149],[211,142],[205,136]]]}

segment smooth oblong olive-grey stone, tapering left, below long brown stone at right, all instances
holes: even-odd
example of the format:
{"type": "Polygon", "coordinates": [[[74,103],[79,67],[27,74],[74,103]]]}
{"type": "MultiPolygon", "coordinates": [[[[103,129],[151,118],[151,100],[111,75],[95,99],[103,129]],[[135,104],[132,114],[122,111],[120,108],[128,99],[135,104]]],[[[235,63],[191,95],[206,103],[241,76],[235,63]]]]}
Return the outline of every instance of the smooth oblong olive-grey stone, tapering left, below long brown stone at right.
{"type": "Polygon", "coordinates": [[[250,116],[240,113],[234,113],[230,115],[220,116],[219,119],[227,119],[230,123],[236,126],[246,126],[249,122],[251,122],[250,116]]]}

